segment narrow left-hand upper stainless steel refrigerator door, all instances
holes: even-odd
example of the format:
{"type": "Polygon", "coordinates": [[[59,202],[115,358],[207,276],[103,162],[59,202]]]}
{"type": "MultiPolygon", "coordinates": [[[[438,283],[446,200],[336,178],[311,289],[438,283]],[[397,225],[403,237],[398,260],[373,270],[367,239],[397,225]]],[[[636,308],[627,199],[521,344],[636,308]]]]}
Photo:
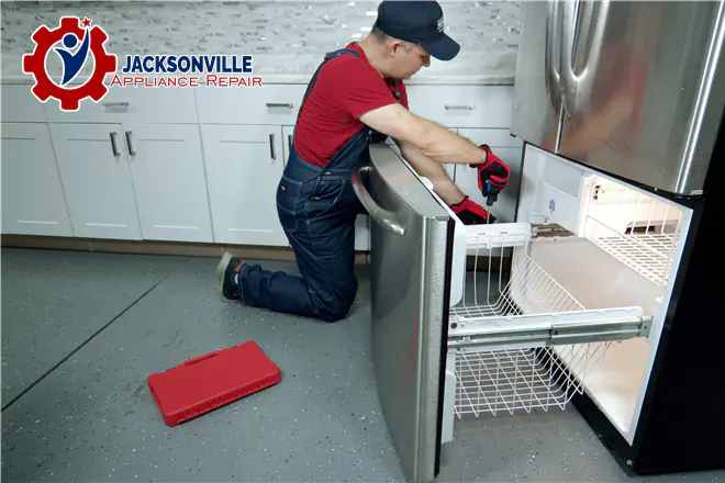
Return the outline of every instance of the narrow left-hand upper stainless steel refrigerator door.
{"type": "Polygon", "coordinates": [[[524,2],[511,133],[555,151],[560,125],[559,1],[524,2]]]}

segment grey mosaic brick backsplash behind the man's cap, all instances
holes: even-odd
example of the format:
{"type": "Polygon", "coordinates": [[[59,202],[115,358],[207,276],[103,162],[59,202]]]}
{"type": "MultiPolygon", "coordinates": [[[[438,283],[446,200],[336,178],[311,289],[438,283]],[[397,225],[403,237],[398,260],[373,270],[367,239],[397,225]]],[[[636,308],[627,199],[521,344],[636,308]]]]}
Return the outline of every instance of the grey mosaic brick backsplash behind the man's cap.
{"type": "MultiPolygon", "coordinates": [[[[507,72],[522,30],[512,1],[442,0],[446,29],[461,44],[435,74],[507,72]]],[[[310,74],[325,52],[366,35],[377,1],[21,1],[2,2],[3,69],[33,50],[32,32],[63,15],[86,15],[109,33],[109,49],[126,54],[253,54],[259,74],[310,74]]]]}

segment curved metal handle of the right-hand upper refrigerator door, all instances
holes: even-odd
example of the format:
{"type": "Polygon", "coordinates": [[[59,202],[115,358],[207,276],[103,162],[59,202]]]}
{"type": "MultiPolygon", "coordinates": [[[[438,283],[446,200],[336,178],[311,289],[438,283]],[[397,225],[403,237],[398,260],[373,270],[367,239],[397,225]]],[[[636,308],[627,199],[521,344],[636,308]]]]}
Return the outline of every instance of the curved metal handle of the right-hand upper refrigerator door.
{"type": "MultiPolygon", "coordinates": [[[[558,2],[557,2],[558,3],[558,2]]],[[[562,2],[561,21],[561,83],[564,110],[571,117],[575,112],[577,99],[587,102],[591,94],[592,66],[599,65],[604,41],[604,27],[606,26],[609,0],[596,2],[562,2]],[[591,42],[582,38],[591,36],[591,42]],[[575,40],[578,44],[588,45],[585,57],[575,59],[575,40]],[[579,74],[575,72],[575,60],[580,67],[579,74]]]]}

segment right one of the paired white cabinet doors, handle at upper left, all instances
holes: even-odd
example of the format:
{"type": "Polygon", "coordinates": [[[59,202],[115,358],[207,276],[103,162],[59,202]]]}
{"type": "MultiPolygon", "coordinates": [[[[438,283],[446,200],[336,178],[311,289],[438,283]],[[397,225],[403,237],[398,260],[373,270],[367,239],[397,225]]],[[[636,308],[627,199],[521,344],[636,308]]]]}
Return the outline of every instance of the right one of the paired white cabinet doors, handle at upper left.
{"type": "Polygon", "coordinates": [[[144,239],[213,242],[199,126],[123,124],[144,239]]]}

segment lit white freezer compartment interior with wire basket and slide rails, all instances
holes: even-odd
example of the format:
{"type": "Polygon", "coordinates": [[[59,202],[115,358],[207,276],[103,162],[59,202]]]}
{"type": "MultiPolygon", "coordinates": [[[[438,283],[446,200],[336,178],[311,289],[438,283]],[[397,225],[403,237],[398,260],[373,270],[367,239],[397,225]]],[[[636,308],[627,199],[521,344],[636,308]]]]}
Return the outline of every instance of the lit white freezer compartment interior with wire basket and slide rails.
{"type": "Polygon", "coordinates": [[[585,392],[632,443],[690,217],[527,145],[516,223],[456,225],[443,442],[585,392]]]}

